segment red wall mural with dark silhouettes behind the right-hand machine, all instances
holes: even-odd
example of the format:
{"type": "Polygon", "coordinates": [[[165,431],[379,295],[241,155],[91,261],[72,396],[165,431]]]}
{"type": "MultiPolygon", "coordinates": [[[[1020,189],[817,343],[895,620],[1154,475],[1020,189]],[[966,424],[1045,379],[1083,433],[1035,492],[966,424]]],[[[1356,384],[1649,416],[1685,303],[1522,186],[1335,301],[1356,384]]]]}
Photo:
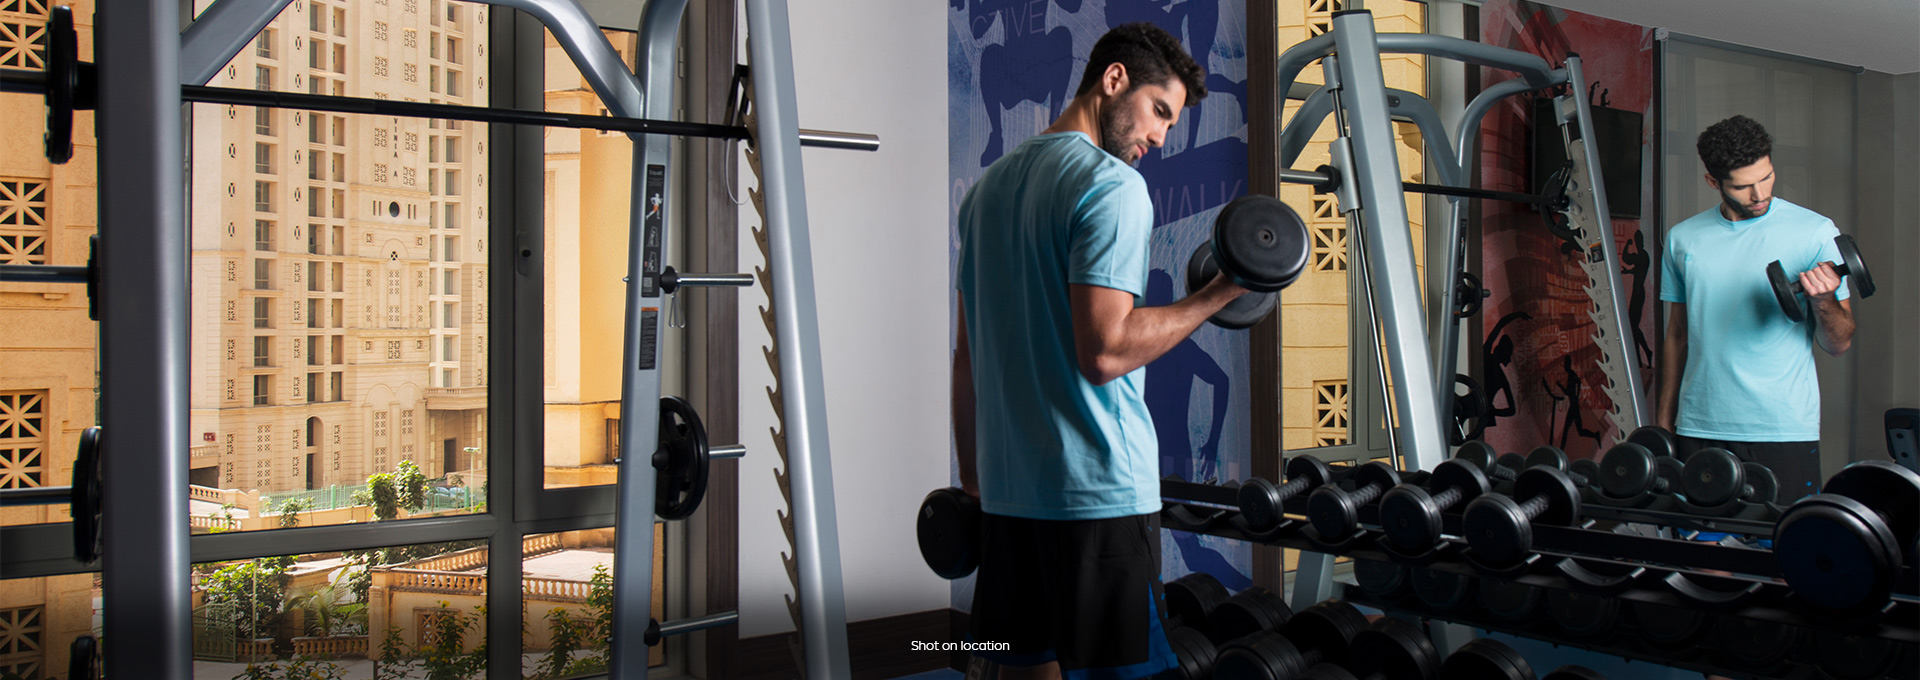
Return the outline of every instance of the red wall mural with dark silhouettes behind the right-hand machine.
{"type": "MultiPolygon", "coordinates": [[[[1653,29],[1565,12],[1534,2],[1490,0],[1480,8],[1480,40],[1494,46],[1538,54],[1563,65],[1567,54],[1580,54],[1594,106],[1638,113],[1640,204],[1653,204],[1653,177],[1645,171],[1653,158],[1657,115],[1653,111],[1653,29]]],[[[1480,86],[1513,79],[1515,73],[1480,69],[1480,86]]],[[[1622,115],[1620,119],[1632,119],[1622,115]]],[[[1607,134],[1597,134],[1607,142],[1607,134]]],[[[1494,108],[1480,134],[1480,182],[1486,188],[1530,192],[1534,163],[1534,98],[1517,96],[1494,108]]],[[[1601,150],[1607,154],[1609,150],[1601,150]]],[[[1624,150],[1634,152],[1634,150],[1624,150]]],[[[1609,179],[1613,186],[1619,179],[1609,179]]],[[[1620,254],[1620,286],[1628,309],[1620,309],[1636,328],[1634,352],[1624,361],[1640,365],[1644,394],[1653,403],[1653,359],[1657,355],[1655,313],[1659,225],[1651,207],[1613,217],[1615,246],[1620,254]]],[[[1540,213],[1528,206],[1482,202],[1480,207],[1482,280],[1492,290],[1478,321],[1482,394],[1492,409],[1486,442],[1500,451],[1528,451],[1553,444],[1567,455],[1596,457],[1624,436],[1607,419],[1611,400],[1603,392],[1605,375],[1588,317],[1586,273],[1578,246],[1548,232],[1540,213]]]]}

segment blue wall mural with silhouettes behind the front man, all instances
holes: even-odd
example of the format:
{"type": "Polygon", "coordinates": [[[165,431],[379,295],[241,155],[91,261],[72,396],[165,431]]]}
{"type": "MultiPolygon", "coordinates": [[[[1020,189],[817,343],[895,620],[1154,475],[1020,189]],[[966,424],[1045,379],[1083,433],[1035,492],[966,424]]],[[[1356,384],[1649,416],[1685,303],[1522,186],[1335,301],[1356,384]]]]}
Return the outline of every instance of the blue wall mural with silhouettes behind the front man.
{"type": "MultiPolygon", "coordinates": [[[[1137,165],[1154,200],[1144,304],[1187,294],[1187,257],[1210,238],[1221,206],[1246,194],[1244,0],[948,0],[948,271],[958,263],[954,221],[968,186],[1052,125],[1094,40],[1131,21],[1167,29],[1208,71],[1208,98],[1185,109],[1165,146],[1137,165]]],[[[1246,478],[1246,332],[1204,325],[1146,367],[1162,474],[1246,478]]],[[[1233,590],[1250,584],[1244,542],[1175,530],[1162,532],[1162,542],[1165,578],[1204,571],[1233,590]]],[[[972,605],[972,578],[956,582],[954,607],[972,605]]]]}

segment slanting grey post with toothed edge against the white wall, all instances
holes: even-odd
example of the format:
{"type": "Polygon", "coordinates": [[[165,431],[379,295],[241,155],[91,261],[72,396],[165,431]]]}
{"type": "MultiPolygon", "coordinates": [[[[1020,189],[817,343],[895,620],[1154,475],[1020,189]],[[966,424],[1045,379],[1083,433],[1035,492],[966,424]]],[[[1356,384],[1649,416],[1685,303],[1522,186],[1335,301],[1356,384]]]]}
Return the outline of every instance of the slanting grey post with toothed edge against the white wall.
{"type": "Polygon", "coordinates": [[[847,592],[841,580],[833,465],[828,455],[826,386],[820,367],[820,313],[814,254],[806,236],[806,181],[793,83],[787,4],[747,0],[747,54],[758,115],[760,192],[766,196],[768,265],[780,392],[787,426],[787,482],[793,488],[793,561],[799,571],[804,676],[847,678],[847,592]]]}

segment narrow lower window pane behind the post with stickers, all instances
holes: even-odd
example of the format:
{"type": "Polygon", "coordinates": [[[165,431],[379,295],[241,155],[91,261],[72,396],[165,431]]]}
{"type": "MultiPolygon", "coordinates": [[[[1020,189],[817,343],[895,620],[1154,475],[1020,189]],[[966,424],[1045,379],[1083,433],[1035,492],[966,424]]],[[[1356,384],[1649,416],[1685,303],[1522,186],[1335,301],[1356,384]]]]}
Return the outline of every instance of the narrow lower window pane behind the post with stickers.
{"type": "MultiPolygon", "coordinates": [[[[607,672],[612,634],[614,528],[532,534],[524,540],[520,584],[522,676],[564,678],[607,672]]],[[[653,524],[653,619],[666,620],[666,524],[653,524]]],[[[649,667],[666,665],[666,647],[649,651],[649,667]]]]}

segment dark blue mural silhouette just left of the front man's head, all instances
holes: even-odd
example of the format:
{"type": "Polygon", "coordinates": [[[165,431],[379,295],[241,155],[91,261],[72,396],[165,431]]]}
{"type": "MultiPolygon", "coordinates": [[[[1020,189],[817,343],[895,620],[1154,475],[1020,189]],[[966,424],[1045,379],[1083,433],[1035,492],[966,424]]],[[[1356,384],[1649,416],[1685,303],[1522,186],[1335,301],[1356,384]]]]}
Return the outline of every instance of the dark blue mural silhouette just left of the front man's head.
{"type": "MultiPolygon", "coordinates": [[[[968,29],[973,40],[985,38],[995,23],[1000,42],[979,54],[979,98],[987,106],[987,150],[979,167],[993,165],[1004,154],[1006,133],[1000,111],[1020,102],[1046,104],[1046,119],[1058,119],[1066,108],[1068,81],[1073,79],[1073,33],[1068,27],[1046,31],[1046,12],[1035,13],[1031,0],[948,0],[948,6],[968,8],[968,29]]],[[[1052,0],[1064,12],[1079,12],[1081,0],[1052,0]]],[[[1037,125],[1027,133],[1037,133],[1037,125]]]]}

